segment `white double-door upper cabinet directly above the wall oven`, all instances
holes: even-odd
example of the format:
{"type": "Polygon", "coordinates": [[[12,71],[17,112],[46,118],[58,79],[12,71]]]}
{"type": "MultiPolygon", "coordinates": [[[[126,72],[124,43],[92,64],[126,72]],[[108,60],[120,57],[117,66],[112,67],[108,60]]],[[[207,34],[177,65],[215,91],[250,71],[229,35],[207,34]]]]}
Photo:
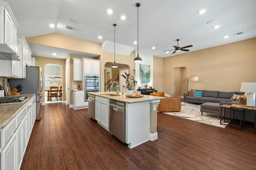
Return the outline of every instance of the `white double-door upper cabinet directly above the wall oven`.
{"type": "Polygon", "coordinates": [[[100,74],[100,61],[84,58],[84,74],[100,74]]]}

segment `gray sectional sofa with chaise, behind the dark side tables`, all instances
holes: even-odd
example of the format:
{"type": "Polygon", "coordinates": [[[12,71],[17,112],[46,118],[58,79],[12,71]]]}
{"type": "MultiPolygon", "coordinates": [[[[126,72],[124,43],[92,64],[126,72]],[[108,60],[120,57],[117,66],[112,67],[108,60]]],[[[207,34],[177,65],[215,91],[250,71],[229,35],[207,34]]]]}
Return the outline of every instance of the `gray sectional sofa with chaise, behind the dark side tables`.
{"type": "MultiPolygon", "coordinates": [[[[221,112],[221,107],[224,104],[232,105],[232,104],[238,104],[238,100],[232,100],[233,94],[237,95],[244,95],[244,92],[220,92],[220,91],[213,91],[213,90],[195,90],[196,92],[202,92],[202,97],[194,97],[194,96],[188,96],[188,93],[184,93],[183,99],[184,102],[192,102],[197,104],[204,104],[207,102],[216,103],[214,105],[209,104],[208,106],[204,106],[201,111],[204,111],[206,113],[213,113],[219,115],[221,112]],[[219,104],[219,110],[216,109],[217,103],[219,104]]],[[[246,104],[242,104],[246,105],[246,104]]],[[[225,109],[225,117],[228,119],[230,118],[230,109],[225,109]]],[[[235,112],[235,119],[240,119],[240,112],[241,110],[234,110],[235,112]]],[[[245,110],[244,112],[244,120],[254,122],[254,111],[252,110],[245,110]]],[[[222,116],[224,116],[224,109],[222,109],[222,116]]],[[[255,115],[256,116],[256,115],[255,115]]]]}

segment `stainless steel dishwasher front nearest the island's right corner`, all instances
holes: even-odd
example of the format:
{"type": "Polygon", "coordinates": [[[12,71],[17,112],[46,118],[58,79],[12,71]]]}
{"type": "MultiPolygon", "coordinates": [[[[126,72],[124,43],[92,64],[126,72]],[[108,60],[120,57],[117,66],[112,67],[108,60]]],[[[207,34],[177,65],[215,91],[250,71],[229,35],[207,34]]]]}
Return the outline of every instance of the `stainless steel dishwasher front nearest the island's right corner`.
{"type": "Polygon", "coordinates": [[[125,142],[125,103],[109,101],[109,132],[125,142]]]}

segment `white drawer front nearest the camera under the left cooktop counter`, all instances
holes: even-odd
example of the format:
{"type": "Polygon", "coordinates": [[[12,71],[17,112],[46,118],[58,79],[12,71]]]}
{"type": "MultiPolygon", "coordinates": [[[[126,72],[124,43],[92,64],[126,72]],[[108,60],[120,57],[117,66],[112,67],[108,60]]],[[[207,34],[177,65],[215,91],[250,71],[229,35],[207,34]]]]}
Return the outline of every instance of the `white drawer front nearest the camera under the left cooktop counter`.
{"type": "Polygon", "coordinates": [[[4,147],[16,130],[16,117],[14,117],[1,131],[1,147],[4,147]]]}

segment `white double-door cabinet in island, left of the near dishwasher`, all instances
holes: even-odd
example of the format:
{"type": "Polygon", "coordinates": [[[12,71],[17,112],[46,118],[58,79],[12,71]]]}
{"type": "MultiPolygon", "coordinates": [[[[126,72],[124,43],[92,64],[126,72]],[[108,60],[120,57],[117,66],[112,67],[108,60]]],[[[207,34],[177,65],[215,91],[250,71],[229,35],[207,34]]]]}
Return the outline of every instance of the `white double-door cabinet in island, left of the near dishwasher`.
{"type": "Polygon", "coordinates": [[[95,96],[95,120],[109,131],[109,99],[95,96]]]}

